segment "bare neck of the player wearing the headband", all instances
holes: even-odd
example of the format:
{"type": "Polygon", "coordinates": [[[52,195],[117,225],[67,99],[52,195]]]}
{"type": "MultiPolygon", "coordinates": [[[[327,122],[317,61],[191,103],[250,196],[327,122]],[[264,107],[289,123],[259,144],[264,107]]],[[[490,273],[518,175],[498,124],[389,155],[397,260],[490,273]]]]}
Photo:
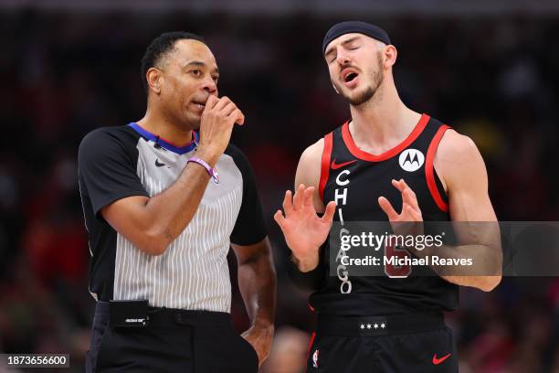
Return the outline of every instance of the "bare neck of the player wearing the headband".
{"type": "Polygon", "coordinates": [[[406,107],[394,85],[383,84],[374,98],[358,107],[351,106],[350,133],[359,148],[382,154],[404,141],[421,118],[406,107]]]}

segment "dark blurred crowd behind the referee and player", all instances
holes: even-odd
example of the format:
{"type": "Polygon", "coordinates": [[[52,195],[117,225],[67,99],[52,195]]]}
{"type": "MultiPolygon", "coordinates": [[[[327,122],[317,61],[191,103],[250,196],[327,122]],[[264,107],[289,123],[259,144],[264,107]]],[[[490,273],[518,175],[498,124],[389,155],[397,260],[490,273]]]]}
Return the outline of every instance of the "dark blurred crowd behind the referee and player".
{"type": "MultiPolygon", "coordinates": [[[[360,18],[385,27],[396,45],[402,99],[478,144],[498,218],[557,220],[559,19],[360,18]]],[[[0,352],[65,352],[72,368],[64,371],[82,371],[94,302],[78,145],[97,127],[142,117],[144,49],[164,31],[187,30],[206,37],[220,93],[247,114],[232,141],[255,168],[279,277],[277,336],[261,371],[304,371],[312,314],[307,294],[286,278],[288,250],[272,214],[302,150],[349,115],[321,55],[323,34],[340,20],[0,13],[0,352]]],[[[238,293],[233,314],[246,328],[238,293]]],[[[447,320],[461,372],[559,372],[557,278],[507,278],[492,293],[462,289],[447,320]]]]}

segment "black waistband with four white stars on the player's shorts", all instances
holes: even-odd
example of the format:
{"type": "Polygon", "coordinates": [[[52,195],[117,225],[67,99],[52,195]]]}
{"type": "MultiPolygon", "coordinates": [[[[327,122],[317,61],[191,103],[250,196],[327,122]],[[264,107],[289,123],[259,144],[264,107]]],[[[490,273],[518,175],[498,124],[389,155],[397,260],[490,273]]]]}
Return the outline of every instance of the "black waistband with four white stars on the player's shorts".
{"type": "Polygon", "coordinates": [[[442,313],[385,316],[319,314],[316,334],[319,336],[388,336],[429,331],[444,326],[442,313]]]}

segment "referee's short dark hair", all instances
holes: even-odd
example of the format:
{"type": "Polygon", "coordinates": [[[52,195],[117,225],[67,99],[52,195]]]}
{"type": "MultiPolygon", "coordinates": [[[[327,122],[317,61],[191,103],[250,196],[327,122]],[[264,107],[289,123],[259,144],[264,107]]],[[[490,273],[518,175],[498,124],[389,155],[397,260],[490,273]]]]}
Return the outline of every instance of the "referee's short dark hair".
{"type": "Polygon", "coordinates": [[[143,90],[146,92],[146,94],[149,91],[147,79],[145,78],[147,70],[154,68],[161,61],[165,54],[173,50],[174,43],[177,40],[183,39],[194,39],[206,44],[206,40],[204,40],[204,37],[200,37],[199,35],[192,34],[190,32],[174,31],[165,32],[159,37],[155,37],[148,48],[145,49],[142,57],[142,69],[140,73],[142,74],[143,90]]]}

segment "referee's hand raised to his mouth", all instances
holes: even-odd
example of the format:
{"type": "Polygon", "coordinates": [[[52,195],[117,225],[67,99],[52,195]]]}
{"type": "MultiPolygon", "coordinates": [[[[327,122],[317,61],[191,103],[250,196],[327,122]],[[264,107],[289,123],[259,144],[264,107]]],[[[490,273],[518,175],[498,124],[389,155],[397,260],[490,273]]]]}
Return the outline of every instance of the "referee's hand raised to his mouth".
{"type": "Polygon", "coordinates": [[[231,139],[233,126],[245,123],[245,114],[227,96],[209,96],[200,121],[200,144],[197,156],[212,167],[225,152],[231,139]]]}

